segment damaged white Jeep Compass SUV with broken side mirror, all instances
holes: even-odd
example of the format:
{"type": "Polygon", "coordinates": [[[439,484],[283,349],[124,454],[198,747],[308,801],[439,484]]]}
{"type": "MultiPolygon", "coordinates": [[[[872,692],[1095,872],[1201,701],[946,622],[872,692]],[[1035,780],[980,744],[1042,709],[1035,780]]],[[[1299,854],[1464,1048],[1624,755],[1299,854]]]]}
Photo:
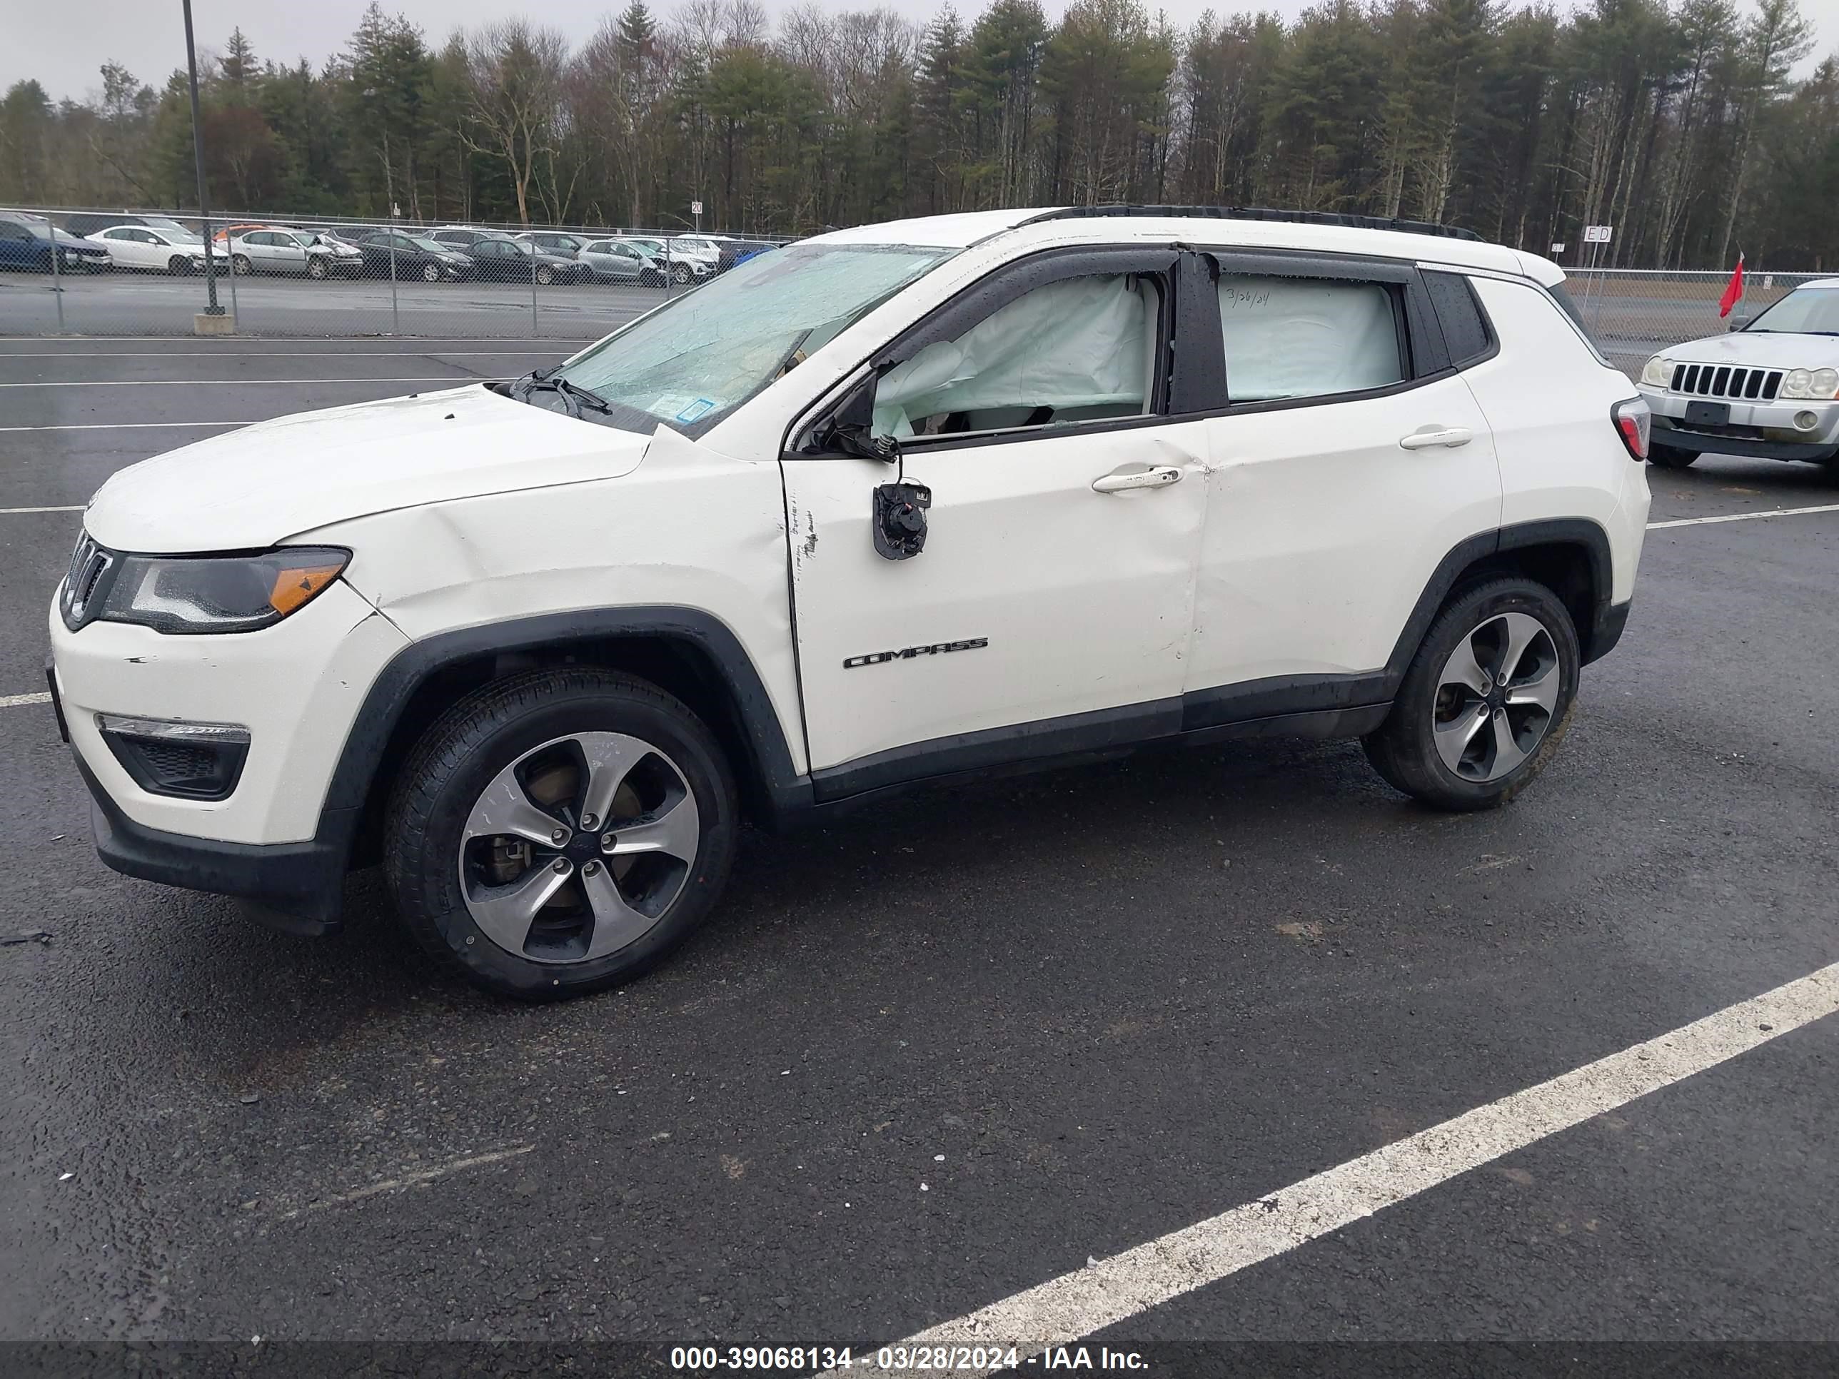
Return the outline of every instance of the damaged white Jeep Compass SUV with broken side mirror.
{"type": "Polygon", "coordinates": [[[820,235],[568,362],[116,474],[51,686],[118,872],[607,986],[736,829],[1015,763],[1361,737],[1513,796],[1622,633],[1648,408],[1539,257],[1411,222],[820,235]]]}

